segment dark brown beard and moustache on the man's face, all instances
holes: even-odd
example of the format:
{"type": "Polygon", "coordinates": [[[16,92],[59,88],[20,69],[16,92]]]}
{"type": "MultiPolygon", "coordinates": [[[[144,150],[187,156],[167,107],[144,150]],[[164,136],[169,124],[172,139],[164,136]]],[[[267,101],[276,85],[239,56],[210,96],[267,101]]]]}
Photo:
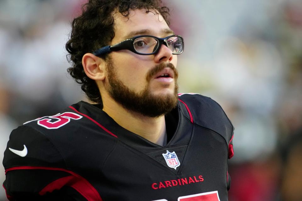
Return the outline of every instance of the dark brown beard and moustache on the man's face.
{"type": "Polygon", "coordinates": [[[170,112],[176,107],[178,96],[177,78],[178,72],[173,64],[167,65],[160,63],[154,68],[151,68],[146,76],[147,85],[143,91],[136,93],[130,90],[124,83],[117,78],[112,61],[107,60],[106,66],[109,84],[106,85],[109,95],[127,110],[131,110],[148,117],[159,117],[170,112]],[[149,90],[149,83],[155,74],[159,73],[164,68],[169,67],[174,71],[175,89],[174,94],[163,96],[152,95],[149,90]]]}

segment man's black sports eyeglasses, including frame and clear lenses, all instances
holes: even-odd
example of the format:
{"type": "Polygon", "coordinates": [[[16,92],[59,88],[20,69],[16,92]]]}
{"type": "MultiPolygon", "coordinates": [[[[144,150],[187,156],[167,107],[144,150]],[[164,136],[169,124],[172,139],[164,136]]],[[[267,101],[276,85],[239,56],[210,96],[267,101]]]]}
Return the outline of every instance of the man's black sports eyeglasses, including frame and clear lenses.
{"type": "Polygon", "coordinates": [[[152,35],[138,35],[111,46],[102,47],[93,52],[95,56],[107,54],[112,51],[130,50],[140,55],[156,54],[160,46],[164,44],[172,54],[181,54],[183,52],[184,42],[180,35],[170,35],[165,38],[158,38],[152,35]]]}

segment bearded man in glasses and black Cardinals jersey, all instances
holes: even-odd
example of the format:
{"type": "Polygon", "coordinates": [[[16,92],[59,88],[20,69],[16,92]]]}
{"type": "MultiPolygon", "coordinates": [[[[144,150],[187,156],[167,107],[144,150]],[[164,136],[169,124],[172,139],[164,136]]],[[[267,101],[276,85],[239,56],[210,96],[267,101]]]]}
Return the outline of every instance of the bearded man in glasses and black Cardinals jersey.
{"type": "Polygon", "coordinates": [[[233,127],[221,107],[177,95],[183,39],[160,0],[90,0],[66,48],[79,102],[15,129],[10,200],[227,200],[233,127]]]}

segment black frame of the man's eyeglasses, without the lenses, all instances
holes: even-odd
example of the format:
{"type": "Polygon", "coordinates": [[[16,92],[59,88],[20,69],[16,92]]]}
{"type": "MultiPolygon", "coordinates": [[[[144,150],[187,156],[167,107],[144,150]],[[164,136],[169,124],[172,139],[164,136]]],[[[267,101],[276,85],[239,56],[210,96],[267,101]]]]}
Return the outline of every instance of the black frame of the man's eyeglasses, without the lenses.
{"type": "Polygon", "coordinates": [[[181,54],[183,52],[183,49],[184,49],[184,41],[183,41],[182,36],[180,36],[180,35],[169,35],[169,36],[167,36],[165,38],[158,38],[158,37],[155,37],[153,35],[137,35],[137,36],[135,36],[133,38],[126,39],[125,41],[121,41],[121,42],[116,43],[114,45],[104,46],[104,47],[102,47],[102,48],[100,48],[100,49],[92,52],[92,54],[94,54],[95,56],[100,56],[100,55],[103,55],[103,54],[110,53],[112,51],[119,51],[119,50],[130,50],[131,52],[134,52],[134,53],[140,54],[140,55],[156,54],[159,51],[159,49],[160,49],[160,47],[161,47],[162,44],[164,44],[165,46],[168,47],[168,41],[167,41],[167,39],[169,39],[171,37],[175,37],[175,36],[177,36],[177,37],[179,37],[179,38],[182,39],[182,51],[179,52],[179,53],[173,53],[172,52],[172,54],[181,54]],[[152,38],[156,39],[158,41],[158,45],[157,45],[156,49],[152,53],[140,53],[140,52],[137,52],[134,49],[134,44],[133,43],[134,43],[135,39],[140,38],[140,37],[152,37],[152,38]]]}

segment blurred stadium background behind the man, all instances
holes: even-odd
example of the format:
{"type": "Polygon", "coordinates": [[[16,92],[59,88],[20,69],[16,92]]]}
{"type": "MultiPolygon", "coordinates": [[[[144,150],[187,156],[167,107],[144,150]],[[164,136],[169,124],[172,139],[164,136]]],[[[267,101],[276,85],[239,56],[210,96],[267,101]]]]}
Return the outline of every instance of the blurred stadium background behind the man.
{"type": "MultiPolygon", "coordinates": [[[[0,1],[1,161],[12,129],[86,99],[64,49],[85,2],[0,1]]],[[[210,96],[235,126],[229,200],[301,201],[302,1],[164,2],[185,39],[179,91],[210,96]]]]}

